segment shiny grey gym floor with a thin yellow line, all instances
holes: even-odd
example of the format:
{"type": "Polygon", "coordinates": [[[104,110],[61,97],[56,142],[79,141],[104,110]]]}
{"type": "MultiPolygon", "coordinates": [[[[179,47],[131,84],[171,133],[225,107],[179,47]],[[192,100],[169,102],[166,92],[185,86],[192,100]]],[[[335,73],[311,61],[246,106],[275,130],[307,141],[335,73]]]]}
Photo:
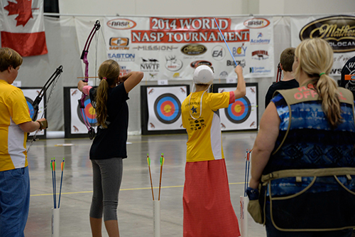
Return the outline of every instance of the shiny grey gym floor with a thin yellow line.
{"type": "MultiPolygon", "coordinates": [[[[256,132],[222,133],[231,203],[239,221],[239,196],[244,195],[246,149],[253,147],[256,135],[256,132]]],[[[163,153],[165,158],[160,190],[161,236],[182,236],[182,191],[187,135],[129,136],[127,142],[129,157],[124,159],[124,176],[119,192],[120,236],[153,236],[153,199],[147,153],[151,157],[155,199],[158,199],[160,154],[163,153]]],[[[43,139],[33,143],[28,152],[31,204],[25,229],[26,237],[48,237],[51,234],[51,209],[54,204],[50,159],[53,157],[57,164],[57,194],[60,191],[60,162],[65,158],[60,197],[60,236],[91,236],[91,144],[89,138],[43,139]]],[[[58,206],[58,196],[56,199],[58,206]]],[[[249,236],[266,236],[265,228],[253,222],[250,215],[248,222],[249,236]]],[[[102,234],[108,236],[104,226],[102,234]]]]}

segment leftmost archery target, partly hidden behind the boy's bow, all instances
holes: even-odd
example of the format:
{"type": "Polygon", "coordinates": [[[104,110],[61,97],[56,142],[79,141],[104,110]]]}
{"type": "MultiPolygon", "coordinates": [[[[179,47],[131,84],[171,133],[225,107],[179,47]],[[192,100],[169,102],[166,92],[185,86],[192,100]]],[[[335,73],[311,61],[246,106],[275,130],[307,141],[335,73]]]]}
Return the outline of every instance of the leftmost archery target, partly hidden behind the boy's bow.
{"type": "MultiPolygon", "coordinates": [[[[38,93],[40,93],[40,90],[42,88],[21,88],[23,95],[25,95],[26,98],[26,102],[28,105],[28,112],[30,113],[30,117],[33,117],[33,114],[35,112],[35,110],[33,109],[33,101],[35,100],[35,98],[37,97],[38,93]]],[[[45,105],[45,95],[43,96],[43,100],[40,101],[40,104],[38,105],[38,114],[37,117],[35,117],[33,120],[39,120],[42,117],[45,117],[44,113],[44,105],[45,105]]],[[[31,132],[30,136],[35,135],[35,132],[31,132]]],[[[45,136],[45,130],[39,130],[37,132],[36,137],[40,137],[40,136],[45,136]]]]}

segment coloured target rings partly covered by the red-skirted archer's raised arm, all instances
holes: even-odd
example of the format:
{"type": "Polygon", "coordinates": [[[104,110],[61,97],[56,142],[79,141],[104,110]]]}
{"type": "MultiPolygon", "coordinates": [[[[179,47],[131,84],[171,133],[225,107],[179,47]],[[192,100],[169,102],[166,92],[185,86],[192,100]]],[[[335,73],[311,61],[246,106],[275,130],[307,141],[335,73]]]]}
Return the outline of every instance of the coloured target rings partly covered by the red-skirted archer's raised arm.
{"type": "Polygon", "coordinates": [[[244,96],[225,108],[224,112],[229,121],[242,123],[248,119],[251,113],[251,103],[249,99],[244,96]]]}

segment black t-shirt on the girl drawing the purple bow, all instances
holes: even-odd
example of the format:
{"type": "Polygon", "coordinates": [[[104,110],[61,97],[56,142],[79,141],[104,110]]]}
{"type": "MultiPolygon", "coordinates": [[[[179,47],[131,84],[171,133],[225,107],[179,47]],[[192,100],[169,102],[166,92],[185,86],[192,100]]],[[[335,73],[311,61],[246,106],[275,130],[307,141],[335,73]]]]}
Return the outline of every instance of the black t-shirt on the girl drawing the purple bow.
{"type": "MultiPolygon", "coordinates": [[[[96,98],[96,88],[90,90],[90,100],[96,98]]],[[[107,98],[107,128],[97,127],[97,135],[90,148],[90,159],[126,158],[127,130],[129,127],[129,107],[124,83],[109,88],[107,98]]],[[[95,106],[94,106],[95,107],[95,106]]]]}

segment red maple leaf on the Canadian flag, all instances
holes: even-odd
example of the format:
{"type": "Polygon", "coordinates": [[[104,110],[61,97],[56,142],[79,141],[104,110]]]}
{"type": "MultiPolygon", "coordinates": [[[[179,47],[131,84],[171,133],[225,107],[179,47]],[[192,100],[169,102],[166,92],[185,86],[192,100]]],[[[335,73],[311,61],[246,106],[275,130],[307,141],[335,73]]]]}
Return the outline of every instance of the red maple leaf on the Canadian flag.
{"type": "Polygon", "coordinates": [[[9,11],[8,16],[18,14],[16,17],[16,26],[25,26],[26,23],[33,18],[32,16],[32,0],[16,0],[17,4],[12,1],[7,1],[9,5],[4,9],[9,11]]]}

